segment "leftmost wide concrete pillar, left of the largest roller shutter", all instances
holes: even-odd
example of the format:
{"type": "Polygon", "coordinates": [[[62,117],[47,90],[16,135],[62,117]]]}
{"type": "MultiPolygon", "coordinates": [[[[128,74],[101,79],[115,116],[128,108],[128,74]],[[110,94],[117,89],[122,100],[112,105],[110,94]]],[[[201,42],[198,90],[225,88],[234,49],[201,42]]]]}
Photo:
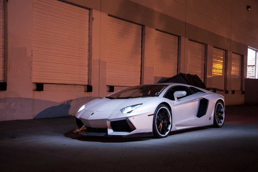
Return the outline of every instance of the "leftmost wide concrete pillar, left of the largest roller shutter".
{"type": "Polygon", "coordinates": [[[33,1],[5,1],[7,91],[0,91],[0,121],[33,117],[32,37],[33,1]]]}

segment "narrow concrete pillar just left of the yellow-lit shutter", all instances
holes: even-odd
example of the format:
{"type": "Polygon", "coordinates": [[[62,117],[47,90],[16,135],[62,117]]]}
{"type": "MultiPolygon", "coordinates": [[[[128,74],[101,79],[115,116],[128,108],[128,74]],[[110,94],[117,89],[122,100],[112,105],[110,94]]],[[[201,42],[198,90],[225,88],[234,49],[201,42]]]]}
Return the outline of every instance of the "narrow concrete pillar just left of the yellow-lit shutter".
{"type": "Polygon", "coordinates": [[[213,46],[205,45],[204,85],[212,87],[213,46]]]}

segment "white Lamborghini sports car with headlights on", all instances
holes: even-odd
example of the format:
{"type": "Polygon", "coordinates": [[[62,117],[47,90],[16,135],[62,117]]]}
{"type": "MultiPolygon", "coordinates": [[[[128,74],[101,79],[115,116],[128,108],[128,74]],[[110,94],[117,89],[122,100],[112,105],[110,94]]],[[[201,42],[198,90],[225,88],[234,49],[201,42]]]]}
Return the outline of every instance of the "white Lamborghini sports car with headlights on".
{"type": "Polygon", "coordinates": [[[129,87],[89,101],[76,113],[83,136],[155,136],[171,131],[224,124],[224,97],[178,83],[129,87]]]}

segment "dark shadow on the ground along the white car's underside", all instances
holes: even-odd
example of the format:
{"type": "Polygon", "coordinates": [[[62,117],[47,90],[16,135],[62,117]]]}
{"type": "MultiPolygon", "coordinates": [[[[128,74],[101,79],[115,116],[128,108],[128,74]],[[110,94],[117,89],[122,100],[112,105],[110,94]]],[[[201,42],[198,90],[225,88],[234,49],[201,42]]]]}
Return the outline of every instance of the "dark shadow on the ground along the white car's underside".
{"type": "MultiPolygon", "coordinates": [[[[206,130],[211,127],[198,127],[198,128],[190,128],[185,130],[173,131],[170,132],[169,136],[182,134],[187,132],[193,131],[201,131],[206,130]]],[[[146,140],[153,140],[157,139],[155,137],[137,137],[137,138],[123,138],[123,137],[92,137],[92,136],[81,136],[79,134],[75,134],[73,130],[64,134],[65,137],[69,137],[71,139],[84,141],[84,142],[103,142],[103,143],[122,143],[122,142],[138,142],[138,141],[146,141],[146,140]]]]}

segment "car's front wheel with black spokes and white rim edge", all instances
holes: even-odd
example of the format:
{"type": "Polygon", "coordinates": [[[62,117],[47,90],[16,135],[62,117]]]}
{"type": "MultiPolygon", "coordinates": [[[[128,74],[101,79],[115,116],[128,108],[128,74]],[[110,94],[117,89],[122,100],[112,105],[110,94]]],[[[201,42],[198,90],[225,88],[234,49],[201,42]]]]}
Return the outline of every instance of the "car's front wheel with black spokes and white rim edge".
{"type": "Polygon", "coordinates": [[[155,110],[153,117],[153,135],[156,138],[165,138],[169,135],[172,127],[172,116],[165,104],[160,104],[155,110]]]}

